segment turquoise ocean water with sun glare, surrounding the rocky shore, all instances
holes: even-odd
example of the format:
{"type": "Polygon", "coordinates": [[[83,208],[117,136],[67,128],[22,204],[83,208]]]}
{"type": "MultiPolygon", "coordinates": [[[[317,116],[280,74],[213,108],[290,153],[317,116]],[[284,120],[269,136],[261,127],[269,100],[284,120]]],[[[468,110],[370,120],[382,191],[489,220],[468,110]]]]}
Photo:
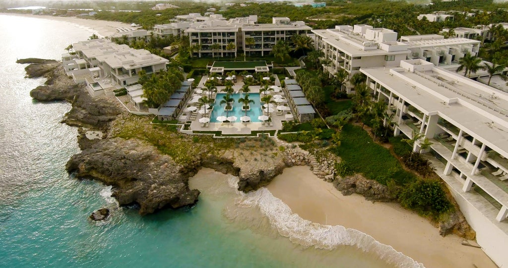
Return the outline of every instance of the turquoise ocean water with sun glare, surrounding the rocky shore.
{"type": "Polygon", "coordinates": [[[0,266],[2,267],[410,267],[411,259],[368,235],[313,225],[266,189],[247,195],[233,176],[203,171],[190,183],[193,209],[140,217],[111,188],[65,171],[79,152],[61,124],[66,102],[38,103],[16,58],[58,59],[85,27],[0,15],[0,266]],[[112,217],[88,215],[108,207],[112,217]],[[284,220],[291,219],[291,221],[284,220]]]}

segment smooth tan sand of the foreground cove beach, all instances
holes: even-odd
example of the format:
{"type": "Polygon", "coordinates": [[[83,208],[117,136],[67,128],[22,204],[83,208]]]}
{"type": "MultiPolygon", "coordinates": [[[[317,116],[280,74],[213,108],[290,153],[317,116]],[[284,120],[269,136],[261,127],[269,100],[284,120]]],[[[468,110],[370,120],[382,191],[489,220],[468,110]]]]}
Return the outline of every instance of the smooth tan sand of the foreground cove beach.
{"type": "Polygon", "coordinates": [[[357,229],[425,267],[496,267],[481,249],[461,245],[456,235],[440,236],[427,220],[399,204],[343,196],[307,166],[284,169],[267,188],[303,219],[357,229]]]}

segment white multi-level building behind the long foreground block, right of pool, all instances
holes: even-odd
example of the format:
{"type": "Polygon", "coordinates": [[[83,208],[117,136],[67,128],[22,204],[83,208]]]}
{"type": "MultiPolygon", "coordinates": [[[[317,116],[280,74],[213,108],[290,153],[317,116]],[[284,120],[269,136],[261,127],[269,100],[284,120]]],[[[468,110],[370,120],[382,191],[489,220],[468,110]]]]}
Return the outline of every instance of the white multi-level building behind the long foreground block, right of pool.
{"type": "MultiPolygon", "coordinates": [[[[477,55],[480,41],[466,38],[444,39],[440,35],[402,36],[391,29],[369,25],[338,25],[335,29],[312,30],[316,49],[330,64],[323,68],[334,75],[339,69],[349,77],[360,68],[398,66],[404,59],[421,58],[435,65],[456,66],[467,51],[477,55]]],[[[349,93],[352,85],[346,84],[349,93]]]]}

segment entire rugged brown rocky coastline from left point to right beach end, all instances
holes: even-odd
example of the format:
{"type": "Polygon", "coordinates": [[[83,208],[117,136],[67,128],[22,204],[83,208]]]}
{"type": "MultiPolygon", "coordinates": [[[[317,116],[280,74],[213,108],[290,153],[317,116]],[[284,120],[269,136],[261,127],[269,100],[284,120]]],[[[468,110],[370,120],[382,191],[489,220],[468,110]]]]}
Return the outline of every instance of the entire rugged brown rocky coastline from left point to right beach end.
{"type": "MultiPolygon", "coordinates": [[[[336,176],[334,164],[340,161],[336,156],[316,159],[314,154],[277,138],[275,140],[283,146],[277,150],[272,144],[271,150],[276,152],[270,151],[270,157],[245,148],[228,148],[196,154],[192,162],[178,164],[171,156],[162,154],[153,143],[115,137],[113,132],[132,115],[114,99],[92,98],[83,85],[76,85],[67,77],[61,63],[42,59],[18,62],[30,64],[25,68],[27,77],[48,78],[44,85],[30,92],[31,97],[43,102],[66,100],[72,104],[62,123],[79,127],[78,143],[82,152],[71,157],[67,170],[76,172],[78,178],[94,178],[113,186],[113,196],[119,205],[139,204],[141,215],[166,207],[177,209],[196,204],[199,191],[189,189],[188,180],[201,167],[238,176],[238,190],[248,192],[268,185],[286,167],[308,165],[316,176],[333,183],[344,195],[359,193],[371,201],[396,201],[396,195],[387,186],[361,175],[336,176]],[[90,130],[104,134],[101,138],[90,139],[86,135],[90,130]]],[[[474,231],[460,212],[438,225],[441,235],[455,233],[468,239],[474,237],[474,231]]]]}

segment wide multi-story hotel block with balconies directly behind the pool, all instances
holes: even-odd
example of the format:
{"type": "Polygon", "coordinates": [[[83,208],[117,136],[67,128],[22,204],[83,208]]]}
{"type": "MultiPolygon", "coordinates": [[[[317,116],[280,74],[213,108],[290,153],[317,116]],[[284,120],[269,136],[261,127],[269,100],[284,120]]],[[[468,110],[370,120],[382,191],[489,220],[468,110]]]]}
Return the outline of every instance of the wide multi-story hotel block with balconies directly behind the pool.
{"type": "MultiPolygon", "coordinates": [[[[193,23],[185,34],[190,45],[200,45],[196,56],[236,56],[239,49],[247,54],[267,55],[278,40],[289,40],[293,35],[307,35],[311,28],[303,21],[274,17],[272,23],[258,24],[258,16],[193,23]],[[228,44],[234,48],[228,49],[228,44]],[[218,45],[215,45],[218,44],[218,45]]],[[[231,46],[230,46],[231,48],[231,46]]]]}

